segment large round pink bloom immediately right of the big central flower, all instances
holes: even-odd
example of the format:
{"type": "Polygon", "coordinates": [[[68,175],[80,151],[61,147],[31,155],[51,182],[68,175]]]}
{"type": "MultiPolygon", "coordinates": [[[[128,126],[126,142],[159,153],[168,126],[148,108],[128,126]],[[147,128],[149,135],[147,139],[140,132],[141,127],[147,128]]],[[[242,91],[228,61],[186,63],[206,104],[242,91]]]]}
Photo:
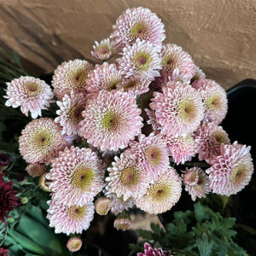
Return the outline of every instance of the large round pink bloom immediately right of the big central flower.
{"type": "Polygon", "coordinates": [[[167,136],[186,136],[197,129],[204,117],[201,95],[189,84],[170,82],[162,93],[154,92],[151,101],[161,133],[167,136]]]}

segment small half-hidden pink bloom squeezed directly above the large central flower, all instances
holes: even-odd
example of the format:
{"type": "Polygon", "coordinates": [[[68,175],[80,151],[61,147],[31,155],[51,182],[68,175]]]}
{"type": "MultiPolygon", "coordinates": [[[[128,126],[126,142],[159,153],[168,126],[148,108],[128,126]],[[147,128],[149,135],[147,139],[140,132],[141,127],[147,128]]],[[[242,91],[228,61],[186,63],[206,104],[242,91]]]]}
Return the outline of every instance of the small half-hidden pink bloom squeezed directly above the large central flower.
{"type": "Polygon", "coordinates": [[[134,75],[128,79],[123,79],[116,88],[127,92],[130,96],[141,95],[149,90],[148,85],[151,80],[142,75],[134,75]]]}

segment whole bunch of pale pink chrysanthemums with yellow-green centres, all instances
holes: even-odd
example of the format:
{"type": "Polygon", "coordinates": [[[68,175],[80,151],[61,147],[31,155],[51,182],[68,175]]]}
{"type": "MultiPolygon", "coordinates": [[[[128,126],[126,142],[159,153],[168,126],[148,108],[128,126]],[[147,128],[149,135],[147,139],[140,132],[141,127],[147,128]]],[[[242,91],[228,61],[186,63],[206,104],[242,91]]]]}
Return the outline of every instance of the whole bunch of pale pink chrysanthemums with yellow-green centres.
{"type": "Polygon", "coordinates": [[[165,38],[157,15],[127,9],[111,36],[93,46],[102,65],[63,62],[53,90],[33,77],[7,83],[5,104],[32,115],[20,154],[51,193],[47,218],[56,233],[81,233],[95,211],[109,210],[119,215],[115,227],[126,230],[131,207],[157,214],[170,210],[183,188],[195,201],[210,192],[233,195],[249,183],[250,147],[230,143],[219,125],[227,113],[224,89],[165,38]],[[55,119],[38,118],[55,98],[55,119]],[[177,172],[194,157],[207,170],[177,172]]]}

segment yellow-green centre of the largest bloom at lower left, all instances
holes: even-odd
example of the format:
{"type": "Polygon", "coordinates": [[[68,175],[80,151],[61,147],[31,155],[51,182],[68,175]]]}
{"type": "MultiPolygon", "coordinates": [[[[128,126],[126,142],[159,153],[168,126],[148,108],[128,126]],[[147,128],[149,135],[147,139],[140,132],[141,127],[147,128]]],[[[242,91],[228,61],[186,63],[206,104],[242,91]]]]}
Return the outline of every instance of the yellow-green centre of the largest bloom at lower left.
{"type": "Polygon", "coordinates": [[[86,166],[79,166],[73,172],[71,183],[74,188],[86,191],[91,186],[91,182],[95,177],[93,169],[86,166]]]}

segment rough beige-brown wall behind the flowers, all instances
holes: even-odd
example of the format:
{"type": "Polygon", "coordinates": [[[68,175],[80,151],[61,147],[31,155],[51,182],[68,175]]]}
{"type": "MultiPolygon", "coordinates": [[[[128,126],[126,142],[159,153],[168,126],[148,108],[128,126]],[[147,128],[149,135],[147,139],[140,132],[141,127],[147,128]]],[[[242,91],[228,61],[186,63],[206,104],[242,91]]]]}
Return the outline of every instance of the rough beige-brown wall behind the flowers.
{"type": "Polygon", "coordinates": [[[183,47],[225,89],[256,79],[256,0],[0,0],[0,46],[37,73],[90,55],[127,8],[148,7],[165,24],[165,43],[183,47]]]}

